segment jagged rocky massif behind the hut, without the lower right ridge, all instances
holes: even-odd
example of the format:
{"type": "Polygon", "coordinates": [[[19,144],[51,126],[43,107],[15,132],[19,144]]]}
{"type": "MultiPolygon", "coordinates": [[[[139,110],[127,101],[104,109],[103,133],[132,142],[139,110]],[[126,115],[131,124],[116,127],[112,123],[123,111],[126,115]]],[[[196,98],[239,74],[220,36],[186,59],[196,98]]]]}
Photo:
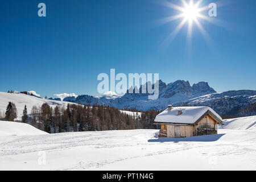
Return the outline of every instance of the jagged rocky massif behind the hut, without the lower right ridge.
{"type": "MultiPolygon", "coordinates": [[[[154,88],[154,84],[152,85],[154,88]]],[[[137,110],[150,110],[150,109],[165,109],[168,104],[175,102],[187,101],[191,98],[203,96],[205,94],[216,93],[213,88],[210,88],[207,82],[199,82],[192,86],[188,81],[177,80],[170,84],[164,83],[159,80],[159,98],[157,100],[148,100],[148,93],[141,93],[142,86],[138,89],[140,92],[127,93],[123,96],[101,96],[93,97],[82,95],[77,98],[67,97],[64,101],[76,102],[81,104],[102,104],[118,107],[119,109],[129,108],[137,110]]]]}

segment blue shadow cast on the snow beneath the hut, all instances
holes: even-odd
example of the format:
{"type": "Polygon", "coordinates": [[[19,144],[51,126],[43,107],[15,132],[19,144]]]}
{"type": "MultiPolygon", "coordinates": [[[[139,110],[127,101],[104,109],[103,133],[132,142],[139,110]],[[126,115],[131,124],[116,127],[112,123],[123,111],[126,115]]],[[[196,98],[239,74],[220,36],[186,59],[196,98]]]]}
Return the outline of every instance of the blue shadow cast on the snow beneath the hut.
{"type": "Polygon", "coordinates": [[[225,134],[217,135],[203,135],[197,137],[187,137],[187,138],[156,138],[150,139],[148,142],[214,142],[220,139],[225,134]]]}

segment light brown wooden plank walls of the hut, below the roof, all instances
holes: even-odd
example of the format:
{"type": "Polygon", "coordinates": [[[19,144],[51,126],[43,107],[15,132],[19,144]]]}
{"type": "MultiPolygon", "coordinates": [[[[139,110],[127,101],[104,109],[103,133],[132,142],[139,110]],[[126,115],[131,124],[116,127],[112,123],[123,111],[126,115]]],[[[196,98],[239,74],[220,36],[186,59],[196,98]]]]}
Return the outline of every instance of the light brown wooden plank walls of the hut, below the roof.
{"type": "Polygon", "coordinates": [[[217,131],[217,121],[210,115],[206,115],[195,126],[193,125],[161,125],[160,134],[167,134],[167,137],[175,138],[175,126],[180,127],[180,137],[194,137],[197,136],[197,128],[208,125],[209,129],[217,131]]]}

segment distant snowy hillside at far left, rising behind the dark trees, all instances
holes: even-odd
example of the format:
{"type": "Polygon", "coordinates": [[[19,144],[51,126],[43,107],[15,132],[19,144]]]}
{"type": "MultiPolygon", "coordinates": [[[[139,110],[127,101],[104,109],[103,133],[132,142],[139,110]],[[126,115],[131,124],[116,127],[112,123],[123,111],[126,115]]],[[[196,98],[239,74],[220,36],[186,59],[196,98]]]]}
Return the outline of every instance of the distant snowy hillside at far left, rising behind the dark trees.
{"type": "Polygon", "coordinates": [[[47,103],[52,107],[55,107],[56,105],[67,106],[69,103],[64,101],[46,100],[43,98],[28,96],[26,94],[21,94],[21,93],[18,94],[18,93],[0,92],[0,111],[5,111],[9,102],[14,102],[14,104],[17,107],[17,110],[18,110],[18,114],[17,114],[18,117],[16,118],[17,120],[21,119],[22,112],[25,105],[27,105],[28,114],[30,114],[33,106],[40,107],[44,103],[47,103]]]}

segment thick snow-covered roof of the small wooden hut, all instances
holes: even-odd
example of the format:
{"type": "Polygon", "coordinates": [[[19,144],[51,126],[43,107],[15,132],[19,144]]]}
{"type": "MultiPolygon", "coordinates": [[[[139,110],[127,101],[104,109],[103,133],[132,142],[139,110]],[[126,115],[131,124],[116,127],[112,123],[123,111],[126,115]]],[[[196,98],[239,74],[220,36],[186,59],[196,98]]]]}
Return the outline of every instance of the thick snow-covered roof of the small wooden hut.
{"type": "Polygon", "coordinates": [[[171,110],[164,110],[155,118],[156,123],[179,123],[192,125],[201,119],[202,116],[210,114],[219,123],[222,123],[222,118],[210,107],[172,107],[171,110]],[[178,110],[182,114],[178,115],[178,110]]]}

